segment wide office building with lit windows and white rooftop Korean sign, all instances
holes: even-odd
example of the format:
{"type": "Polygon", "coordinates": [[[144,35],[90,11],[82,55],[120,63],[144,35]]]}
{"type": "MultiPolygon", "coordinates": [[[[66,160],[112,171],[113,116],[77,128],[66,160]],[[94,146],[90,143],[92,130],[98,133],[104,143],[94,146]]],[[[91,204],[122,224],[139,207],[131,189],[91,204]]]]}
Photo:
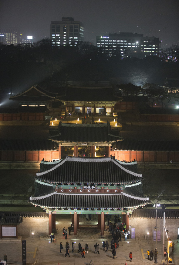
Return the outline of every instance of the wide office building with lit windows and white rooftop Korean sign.
{"type": "Polygon", "coordinates": [[[143,34],[131,32],[109,33],[96,37],[97,47],[107,55],[144,58],[147,55],[159,56],[159,38],[144,37],[143,34]]]}

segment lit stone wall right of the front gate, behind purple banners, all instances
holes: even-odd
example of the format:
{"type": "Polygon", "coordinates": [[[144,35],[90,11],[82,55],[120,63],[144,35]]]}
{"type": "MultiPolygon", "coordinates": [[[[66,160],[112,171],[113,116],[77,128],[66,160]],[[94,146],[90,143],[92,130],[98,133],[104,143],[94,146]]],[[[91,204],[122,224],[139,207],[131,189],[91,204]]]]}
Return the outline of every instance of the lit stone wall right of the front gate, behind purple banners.
{"type": "MultiPolygon", "coordinates": [[[[166,218],[165,222],[169,231],[168,236],[177,239],[177,228],[179,227],[179,218],[166,218]]],[[[157,219],[157,230],[160,231],[161,237],[163,237],[163,223],[163,218],[157,219]]],[[[132,228],[135,228],[136,237],[145,237],[147,235],[147,232],[149,232],[149,238],[152,240],[154,227],[156,226],[156,218],[130,218],[129,225],[131,225],[132,228]]]]}

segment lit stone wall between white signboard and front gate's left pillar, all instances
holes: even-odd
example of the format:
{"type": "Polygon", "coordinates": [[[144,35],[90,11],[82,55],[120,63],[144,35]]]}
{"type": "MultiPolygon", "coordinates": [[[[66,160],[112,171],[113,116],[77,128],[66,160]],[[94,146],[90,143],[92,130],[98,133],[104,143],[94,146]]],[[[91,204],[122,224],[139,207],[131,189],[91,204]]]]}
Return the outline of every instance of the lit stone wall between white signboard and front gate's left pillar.
{"type": "Polygon", "coordinates": [[[47,217],[23,217],[23,221],[18,225],[18,235],[20,236],[44,236],[49,234],[49,218],[47,217]]]}

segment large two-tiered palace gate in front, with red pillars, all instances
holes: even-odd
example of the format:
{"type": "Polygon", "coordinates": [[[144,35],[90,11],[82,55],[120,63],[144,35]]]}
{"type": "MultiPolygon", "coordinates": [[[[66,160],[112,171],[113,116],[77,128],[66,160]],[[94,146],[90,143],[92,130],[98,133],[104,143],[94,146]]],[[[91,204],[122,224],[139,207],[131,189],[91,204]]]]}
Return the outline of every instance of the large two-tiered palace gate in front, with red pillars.
{"type": "Polygon", "coordinates": [[[112,155],[42,160],[29,202],[49,214],[49,234],[55,229],[56,214],[72,214],[74,235],[80,214],[97,214],[103,236],[106,215],[121,215],[129,228],[129,214],[149,203],[142,192],[142,180],[136,161],[126,163],[112,155]]]}

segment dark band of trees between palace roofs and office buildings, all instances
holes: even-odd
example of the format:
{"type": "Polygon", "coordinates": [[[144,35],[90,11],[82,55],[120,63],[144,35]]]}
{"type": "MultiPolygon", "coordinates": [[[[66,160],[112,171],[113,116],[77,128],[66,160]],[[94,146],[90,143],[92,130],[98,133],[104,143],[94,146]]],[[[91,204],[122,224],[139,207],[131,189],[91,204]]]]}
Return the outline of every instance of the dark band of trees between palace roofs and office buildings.
{"type": "Polygon", "coordinates": [[[0,90],[10,88],[21,92],[33,84],[45,87],[62,86],[66,81],[112,80],[112,83],[164,82],[177,78],[178,61],[161,57],[123,58],[108,56],[89,42],[65,47],[52,47],[51,40],[43,39],[33,45],[0,44],[0,90]],[[135,76],[140,76],[137,82],[135,76]],[[142,81],[143,80],[143,81],[142,81]]]}

